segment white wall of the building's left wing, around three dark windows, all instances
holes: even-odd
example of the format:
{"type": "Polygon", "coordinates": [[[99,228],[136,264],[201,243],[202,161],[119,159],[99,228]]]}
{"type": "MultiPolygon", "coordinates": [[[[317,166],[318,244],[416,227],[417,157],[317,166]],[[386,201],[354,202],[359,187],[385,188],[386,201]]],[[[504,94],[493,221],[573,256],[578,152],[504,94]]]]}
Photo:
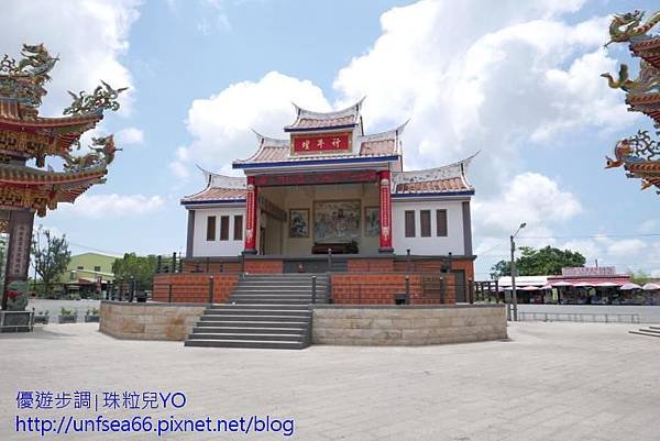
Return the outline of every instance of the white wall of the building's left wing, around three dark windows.
{"type": "Polygon", "coordinates": [[[237,256],[243,252],[243,240],[233,240],[234,216],[243,216],[243,236],[245,235],[245,207],[220,207],[195,209],[195,232],[193,239],[194,257],[237,256]],[[207,218],[216,217],[216,240],[207,241],[207,218]],[[220,240],[220,217],[229,216],[229,240],[220,240]]]}

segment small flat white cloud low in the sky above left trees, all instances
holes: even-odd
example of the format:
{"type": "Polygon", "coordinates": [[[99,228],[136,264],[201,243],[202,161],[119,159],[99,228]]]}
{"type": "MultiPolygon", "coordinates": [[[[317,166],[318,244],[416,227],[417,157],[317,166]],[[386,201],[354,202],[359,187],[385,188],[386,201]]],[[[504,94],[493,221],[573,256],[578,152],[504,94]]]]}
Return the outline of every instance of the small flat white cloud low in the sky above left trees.
{"type": "Polygon", "coordinates": [[[63,203],[62,211],[76,217],[127,218],[131,216],[150,214],[165,205],[161,196],[144,195],[81,195],[76,203],[63,203]]]}

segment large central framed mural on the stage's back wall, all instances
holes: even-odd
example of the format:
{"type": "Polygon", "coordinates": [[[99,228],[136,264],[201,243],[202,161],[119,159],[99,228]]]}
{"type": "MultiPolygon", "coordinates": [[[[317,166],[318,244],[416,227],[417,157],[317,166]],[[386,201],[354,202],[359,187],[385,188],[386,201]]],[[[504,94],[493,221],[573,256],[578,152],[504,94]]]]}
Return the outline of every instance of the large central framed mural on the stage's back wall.
{"type": "Polygon", "coordinates": [[[315,242],[359,242],[360,211],[360,200],[315,201],[315,242]]]}

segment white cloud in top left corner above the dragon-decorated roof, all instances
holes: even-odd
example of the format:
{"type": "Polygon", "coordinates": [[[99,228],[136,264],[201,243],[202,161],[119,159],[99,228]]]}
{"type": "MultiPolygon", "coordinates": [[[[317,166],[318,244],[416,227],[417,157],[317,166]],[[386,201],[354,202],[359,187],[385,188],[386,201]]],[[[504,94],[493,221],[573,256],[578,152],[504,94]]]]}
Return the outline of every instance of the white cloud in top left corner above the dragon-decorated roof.
{"type": "Polygon", "coordinates": [[[91,90],[105,80],[131,87],[122,93],[120,113],[131,108],[132,78],[120,58],[129,47],[131,24],[138,19],[136,0],[9,0],[2,4],[0,41],[19,56],[23,43],[45,43],[59,62],[51,71],[42,114],[62,114],[70,103],[67,90],[91,90]]]}

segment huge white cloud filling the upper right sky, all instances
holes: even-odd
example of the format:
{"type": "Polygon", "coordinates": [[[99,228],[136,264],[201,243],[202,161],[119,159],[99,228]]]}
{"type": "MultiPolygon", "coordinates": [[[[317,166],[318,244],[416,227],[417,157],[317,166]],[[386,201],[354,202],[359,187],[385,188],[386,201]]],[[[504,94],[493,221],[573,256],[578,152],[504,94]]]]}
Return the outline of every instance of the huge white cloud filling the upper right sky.
{"type": "Polygon", "coordinates": [[[560,20],[581,4],[463,1],[455,8],[424,0],[394,8],[383,14],[374,46],[339,71],[334,88],[342,103],[367,96],[372,128],[411,118],[404,140],[408,167],[481,150],[474,181],[481,191],[497,190],[522,168],[522,148],[636,118],[620,93],[600,81],[616,66],[602,48],[607,19],[560,20]]]}

